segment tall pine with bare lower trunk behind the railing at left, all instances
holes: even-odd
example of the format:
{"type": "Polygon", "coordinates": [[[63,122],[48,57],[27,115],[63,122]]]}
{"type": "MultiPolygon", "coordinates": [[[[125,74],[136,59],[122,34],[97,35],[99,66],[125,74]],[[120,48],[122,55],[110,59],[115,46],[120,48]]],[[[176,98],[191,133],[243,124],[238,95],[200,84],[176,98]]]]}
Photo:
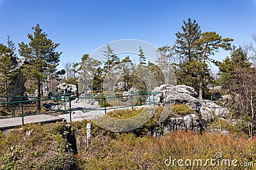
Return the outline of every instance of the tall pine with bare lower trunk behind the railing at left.
{"type": "MultiPolygon", "coordinates": [[[[33,35],[28,34],[29,43],[19,43],[19,54],[29,62],[24,66],[22,72],[35,79],[38,90],[37,96],[40,99],[42,82],[47,80],[47,75],[57,70],[56,67],[60,62],[61,53],[55,52],[60,44],[47,38],[47,34],[42,32],[39,24],[36,24],[32,29],[34,30],[33,35]],[[29,74],[27,74],[28,72],[29,74]]],[[[40,110],[40,101],[38,101],[38,110],[40,110]]]]}

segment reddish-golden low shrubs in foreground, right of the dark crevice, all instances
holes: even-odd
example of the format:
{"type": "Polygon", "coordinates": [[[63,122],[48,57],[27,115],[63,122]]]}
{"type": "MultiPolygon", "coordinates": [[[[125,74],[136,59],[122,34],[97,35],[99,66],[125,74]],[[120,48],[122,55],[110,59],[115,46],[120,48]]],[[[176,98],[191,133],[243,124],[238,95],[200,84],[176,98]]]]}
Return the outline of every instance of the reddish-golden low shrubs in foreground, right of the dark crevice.
{"type": "MultiPolygon", "coordinates": [[[[221,152],[223,159],[256,164],[256,139],[234,138],[221,134],[195,134],[174,132],[162,138],[136,137],[134,134],[97,136],[88,148],[77,155],[81,169],[241,169],[234,166],[166,166],[169,159],[216,159],[221,152]]],[[[237,164],[238,164],[237,162],[237,164]]],[[[250,167],[247,167],[250,169],[250,167]]]]}

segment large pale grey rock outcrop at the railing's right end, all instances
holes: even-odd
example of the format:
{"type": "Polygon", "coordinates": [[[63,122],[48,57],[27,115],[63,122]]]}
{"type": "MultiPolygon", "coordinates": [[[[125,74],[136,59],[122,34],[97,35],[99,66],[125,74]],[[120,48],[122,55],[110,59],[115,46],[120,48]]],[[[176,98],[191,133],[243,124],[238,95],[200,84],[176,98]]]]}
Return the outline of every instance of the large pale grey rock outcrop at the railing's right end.
{"type": "MultiPolygon", "coordinates": [[[[195,89],[186,85],[161,85],[156,87],[153,92],[161,92],[161,94],[154,94],[154,100],[157,102],[163,98],[164,104],[181,103],[186,104],[196,114],[188,114],[184,117],[170,117],[163,122],[164,133],[173,132],[176,130],[190,130],[193,132],[202,132],[202,127],[214,120],[214,116],[220,118],[228,117],[227,108],[221,108],[218,104],[212,101],[199,101],[195,89]]],[[[153,97],[148,97],[147,103],[152,102],[153,97]],[[150,100],[150,101],[149,101],[150,100]]]]}

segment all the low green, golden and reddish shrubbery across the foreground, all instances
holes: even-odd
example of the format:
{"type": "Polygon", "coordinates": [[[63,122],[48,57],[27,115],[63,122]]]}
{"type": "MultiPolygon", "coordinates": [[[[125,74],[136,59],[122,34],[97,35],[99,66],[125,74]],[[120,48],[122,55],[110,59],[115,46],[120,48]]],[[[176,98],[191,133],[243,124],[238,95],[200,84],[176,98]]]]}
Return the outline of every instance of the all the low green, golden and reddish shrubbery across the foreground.
{"type": "MultiPolygon", "coordinates": [[[[176,105],[182,108],[182,105],[176,105]]],[[[221,159],[253,162],[256,167],[256,138],[246,138],[239,129],[224,120],[212,122],[209,128],[230,131],[230,134],[176,131],[162,137],[147,132],[156,128],[163,107],[139,129],[110,132],[92,124],[92,138],[86,141],[86,124],[90,121],[28,124],[22,129],[0,133],[0,169],[241,169],[235,166],[178,166],[177,160],[221,159]],[[75,138],[76,134],[76,138],[75,138]],[[76,141],[77,140],[77,141],[76,141]],[[77,142],[79,148],[77,148],[77,142]],[[176,159],[175,166],[166,166],[166,159],[176,159]]],[[[178,110],[178,109],[177,109],[178,110]]],[[[115,118],[131,118],[142,110],[109,112],[115,118]]],[[[149,110],[150,111],[150,110],[149,110]]],[[[189,108],[184,113],[191,113],[189,108]]],[[[177,112],[173,113],[177,114],[177,112]]],[[[92,122],[90,122],[92,123],[92,122]]],[[[173,162],[172,162],[173,163],[173,162]]],[[[243,168],[242,168],[243,169],[243,168]]]]}

